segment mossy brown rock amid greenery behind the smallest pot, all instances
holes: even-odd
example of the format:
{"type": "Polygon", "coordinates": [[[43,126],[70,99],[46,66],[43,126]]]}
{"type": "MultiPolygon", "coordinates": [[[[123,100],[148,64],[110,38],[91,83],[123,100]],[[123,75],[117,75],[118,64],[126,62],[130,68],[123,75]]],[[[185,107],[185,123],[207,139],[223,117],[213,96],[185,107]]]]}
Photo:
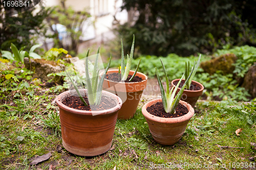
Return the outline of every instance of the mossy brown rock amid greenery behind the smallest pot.
{"type": "Polygon", "coordinates": [[[201,67],[205,72],[213,75],[217,70],[222,70],[224,75],[232,74],[234,66],[232,65],[237,60],[234,54],[224,54],[220,57],[205,61],[201,63],[201,67]]]}

